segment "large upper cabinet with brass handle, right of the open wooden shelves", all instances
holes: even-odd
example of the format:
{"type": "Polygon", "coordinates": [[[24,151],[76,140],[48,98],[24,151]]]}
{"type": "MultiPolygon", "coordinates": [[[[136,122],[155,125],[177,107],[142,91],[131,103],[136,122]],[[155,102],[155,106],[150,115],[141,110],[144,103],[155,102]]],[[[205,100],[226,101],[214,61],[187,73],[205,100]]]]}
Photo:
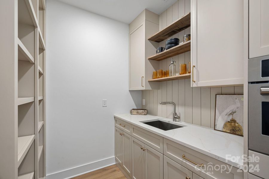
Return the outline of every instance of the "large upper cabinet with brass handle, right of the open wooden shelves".
{"type": "Polygon", "coordinates": [[[243,0],[191,1],[192,87],[243,84],[243,0]]]}

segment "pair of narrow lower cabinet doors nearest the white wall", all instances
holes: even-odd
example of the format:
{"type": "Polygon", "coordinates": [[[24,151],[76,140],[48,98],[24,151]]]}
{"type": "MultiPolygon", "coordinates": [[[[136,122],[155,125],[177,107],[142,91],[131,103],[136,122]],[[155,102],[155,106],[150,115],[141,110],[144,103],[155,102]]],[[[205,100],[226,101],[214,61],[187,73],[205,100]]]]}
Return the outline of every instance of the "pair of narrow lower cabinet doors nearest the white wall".
{"type": "Polygon", "coordinates": [[[115,161],[126,178],[131,178],[132,138],[126,132],[115,127],[115,161]]]}

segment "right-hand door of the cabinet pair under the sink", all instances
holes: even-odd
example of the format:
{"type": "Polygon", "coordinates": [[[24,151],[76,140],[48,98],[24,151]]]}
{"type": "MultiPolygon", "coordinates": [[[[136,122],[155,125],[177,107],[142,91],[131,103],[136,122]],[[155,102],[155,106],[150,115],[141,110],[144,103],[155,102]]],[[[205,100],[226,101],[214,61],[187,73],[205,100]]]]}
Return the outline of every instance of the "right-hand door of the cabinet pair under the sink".
{"type": "Polygon", "coordinates": [[[145,144],[146,179],[163,179],[163,154],[145,144]]]}

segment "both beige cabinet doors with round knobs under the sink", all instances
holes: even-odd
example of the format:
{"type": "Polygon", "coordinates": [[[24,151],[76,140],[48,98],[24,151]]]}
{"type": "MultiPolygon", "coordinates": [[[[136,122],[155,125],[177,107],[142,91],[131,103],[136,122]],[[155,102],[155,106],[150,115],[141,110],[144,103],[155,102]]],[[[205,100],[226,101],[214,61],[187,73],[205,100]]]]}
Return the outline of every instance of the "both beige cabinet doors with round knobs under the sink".
{"type": "Polygon", "coordinates": [[[133,137],[132,178],[163,179],[163,154],[133,137]]]}

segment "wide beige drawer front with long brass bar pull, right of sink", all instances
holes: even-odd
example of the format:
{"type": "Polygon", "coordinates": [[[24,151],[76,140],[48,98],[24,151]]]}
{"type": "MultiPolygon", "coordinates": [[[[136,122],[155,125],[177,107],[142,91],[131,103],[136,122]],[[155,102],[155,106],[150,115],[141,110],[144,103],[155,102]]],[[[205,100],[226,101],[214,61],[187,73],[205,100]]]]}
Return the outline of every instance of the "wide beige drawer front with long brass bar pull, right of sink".
{"type": "Polygon", "coordinates": [[[243,179],[242,170],[166,138],[163,139],[163,155],[186,167],[202,178],[243,179]],[[203,166],[198,166],[195,163],[198,165],[203,164],[203,166]],[[223,170],[221,171],[219,167],[223,168],[223,170]]]}

